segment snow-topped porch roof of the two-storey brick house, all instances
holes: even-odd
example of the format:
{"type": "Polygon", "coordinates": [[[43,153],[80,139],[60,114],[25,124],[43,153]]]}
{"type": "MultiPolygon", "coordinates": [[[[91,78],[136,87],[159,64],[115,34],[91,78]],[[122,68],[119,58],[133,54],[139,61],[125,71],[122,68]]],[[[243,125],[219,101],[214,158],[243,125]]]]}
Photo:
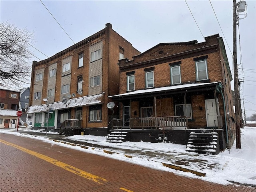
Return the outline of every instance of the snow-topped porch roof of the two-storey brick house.
{"type": "Polygon", "coordinates": [[[190,83],[190,84],[182,84],[175,86],[167,86],[167,87],[158,87],[151,89],[143,89],[136,90],[132,92],[127,92],[123,94],[108,96],[113,100],[120,99],[128,99],[128,98],[138,98],[138,97],[146,97],[146,96],[154,96],[159,94],[177,94],[177,93],[185,93],[185,92],[194,92],[194,91],[203,91],[203,90],[214,90],[213,88],[217,87],[222,88],[222,82],[211,82],[211,83],[190,83]]]}

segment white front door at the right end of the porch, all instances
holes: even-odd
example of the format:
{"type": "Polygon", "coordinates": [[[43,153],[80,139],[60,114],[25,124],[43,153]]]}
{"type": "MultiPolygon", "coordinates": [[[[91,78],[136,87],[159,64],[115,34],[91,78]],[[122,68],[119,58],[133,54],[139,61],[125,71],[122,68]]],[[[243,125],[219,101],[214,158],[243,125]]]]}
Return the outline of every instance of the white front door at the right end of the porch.
{"type": "MultiPolygon", "coordinates": [[[[217,100],[218,102],[218,100],[217,100]]],[[[215,126],[218,126],[218,120],[217,120],[217,111],[216,111],[216,104],[215,99],[207,99],[205,100],[205,109],[206,109],[206,121],[208,127],[214,126],[214,120],[215,120],[215,126]]]]}

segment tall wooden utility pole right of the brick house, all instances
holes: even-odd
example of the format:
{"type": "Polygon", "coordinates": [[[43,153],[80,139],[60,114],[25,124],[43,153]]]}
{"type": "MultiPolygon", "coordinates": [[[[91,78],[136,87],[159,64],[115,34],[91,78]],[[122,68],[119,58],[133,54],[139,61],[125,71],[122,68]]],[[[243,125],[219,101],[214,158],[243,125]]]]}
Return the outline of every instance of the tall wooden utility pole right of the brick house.
{"type": "Polygon", "coordinates": [[[235,110],[236,110],[236,148],[241,148],[241,134],[240,134],[240,93],[238,88],[238,68],[236,55],[236,0],[233,0],[233,63],[234,63],[234,96],[235,96],[235,110]]]}

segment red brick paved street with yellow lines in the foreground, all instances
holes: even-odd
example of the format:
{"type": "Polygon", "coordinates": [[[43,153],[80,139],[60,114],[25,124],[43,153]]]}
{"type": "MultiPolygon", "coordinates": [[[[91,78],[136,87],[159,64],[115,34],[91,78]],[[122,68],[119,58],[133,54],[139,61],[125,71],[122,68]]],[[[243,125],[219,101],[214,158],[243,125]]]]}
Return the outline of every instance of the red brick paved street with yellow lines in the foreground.
{"type": "Polygon", "coordinates": [[[178,176],[12,134],[0,134],[0,139],[1,192],[256,191],[252,187],[224,186],[178,176]],[[61,167],[62,164],[67,165],[61,167]],[[78,171],[72,167],[68,170],[69,166],[78,171]],[[83,173],[89,179],[81,176],[83,173]],[[96,182],[97,178],[100,182],[96,182]]]}

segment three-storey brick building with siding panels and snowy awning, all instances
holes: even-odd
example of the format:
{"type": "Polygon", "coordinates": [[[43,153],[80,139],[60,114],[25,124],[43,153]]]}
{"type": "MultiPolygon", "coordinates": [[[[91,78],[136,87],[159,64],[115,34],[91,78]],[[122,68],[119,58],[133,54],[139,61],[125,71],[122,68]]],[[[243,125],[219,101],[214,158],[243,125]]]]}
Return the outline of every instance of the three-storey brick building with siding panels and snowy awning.
{"type": "Polygon", "coordinates": [[[82,128],[86,134],[106,135],[112,114],[108,96],[119,92],[118,60],[137,54],[108,23],[54,56],[34,61],[27,110],[32,127],[65,134],[80,134],[82,128]],[[70,131],[74,127],[77,131],[70,131]]]}

